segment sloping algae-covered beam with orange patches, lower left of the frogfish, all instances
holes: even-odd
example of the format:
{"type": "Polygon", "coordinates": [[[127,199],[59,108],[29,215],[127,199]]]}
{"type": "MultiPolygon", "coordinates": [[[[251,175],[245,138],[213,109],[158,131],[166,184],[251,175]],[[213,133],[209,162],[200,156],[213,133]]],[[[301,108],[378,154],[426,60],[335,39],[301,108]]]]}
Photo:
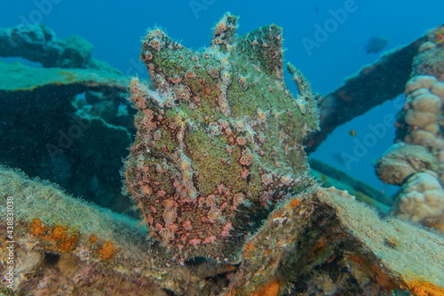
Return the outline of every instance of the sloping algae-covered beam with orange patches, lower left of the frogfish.
{"type": "Polygon", "coordinates": [[[12,283],[0,284],[2,295],[168,295],[164,289],[185,295],[205,286],[187,268],[155,268],[147,236],[138,220],[0,166],[0,273],[14,271],[12,283]]]}

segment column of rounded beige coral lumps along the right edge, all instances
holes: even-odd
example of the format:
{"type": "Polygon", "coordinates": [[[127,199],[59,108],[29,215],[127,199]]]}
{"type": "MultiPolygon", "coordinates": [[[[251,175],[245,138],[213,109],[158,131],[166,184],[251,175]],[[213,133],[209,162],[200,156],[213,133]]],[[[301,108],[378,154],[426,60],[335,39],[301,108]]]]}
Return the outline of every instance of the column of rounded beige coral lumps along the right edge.
{"type": "Polygon", "coordinates": [[[401,186],[392,213],[444,234],[444,46],[436,28],[414,59],[406,101],[397,116],[396,141],[377,161],[385,183],[401,186]]]}

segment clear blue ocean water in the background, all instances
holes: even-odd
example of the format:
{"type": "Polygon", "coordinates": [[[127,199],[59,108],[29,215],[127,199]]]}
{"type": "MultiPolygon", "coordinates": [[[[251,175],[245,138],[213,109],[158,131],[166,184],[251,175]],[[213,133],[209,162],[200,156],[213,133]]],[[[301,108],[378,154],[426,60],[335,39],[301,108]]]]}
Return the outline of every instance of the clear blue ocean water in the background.
{"type": "MultiPolygon", "coordinates": [[[[139,49],[147,28],[162,26],[171,37],[198,49],[209,44],[210,28],[229,11],[241,17],[239,35],[270,23],[281,26],[285,59],[302,70],[314,92],[328,94],[342,84],[346,76],[378,59],[382,52],[368,54],[365,51],[370,37],[384,36],[388,40],[385,50],[409,44],[443,22],[443,9],[444,2],[436,0],[2,1],[0,27],[39,22],[52,28],[60,38],[82,36],[94,44],[95,58],[107,61],[129,76],[146,76],[145,68],[139,63],[139,49]],[[350,12],[335,19],[345,8],[350,12]],[[337,20],[336,25],[331,20],[337,20]],[[316,39],[317,28],[325,26],[331,26],[327,36],[316,39]],[[317,40],[316,46],[307,46],[304,40],[317,40]]],[[[385,114],[395,114],[397,108],[399,106],[389,101],[337,128],[312,156],[382,189],[371,163],[392,144],[393,127],[377,137],[375,146],[357,162],[341,164],[335,155],[352,153],[356,140],[372,132],[369,124],[381,123],[385,114]],[[349,135],[352,129],[356,132],[353,138],[349,135]]]]}

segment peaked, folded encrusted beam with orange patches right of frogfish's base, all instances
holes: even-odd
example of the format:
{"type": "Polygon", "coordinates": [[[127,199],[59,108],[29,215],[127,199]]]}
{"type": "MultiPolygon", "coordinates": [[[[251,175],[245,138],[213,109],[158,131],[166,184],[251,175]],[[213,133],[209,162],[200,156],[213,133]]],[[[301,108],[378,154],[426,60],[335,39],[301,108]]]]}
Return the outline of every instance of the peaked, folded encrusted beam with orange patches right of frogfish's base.
{"type": "Polygon", "coordinates": [[[336,188],[281,204],[242,249],[232,295],[443,295],[444,239],[336,188]],[[345,271],[346,270],[346,271],[345,271]]]}

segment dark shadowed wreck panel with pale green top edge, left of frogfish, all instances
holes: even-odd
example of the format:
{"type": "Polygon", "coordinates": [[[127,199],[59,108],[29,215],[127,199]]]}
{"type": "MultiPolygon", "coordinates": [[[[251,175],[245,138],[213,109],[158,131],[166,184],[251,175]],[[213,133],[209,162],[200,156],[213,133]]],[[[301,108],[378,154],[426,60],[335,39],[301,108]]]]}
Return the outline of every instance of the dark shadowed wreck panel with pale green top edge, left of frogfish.
{"type": "Polygon", "coordinates": [[[128,84],[117,71],[0,62],[0,163],[137,216],[119,175],[135,131],[128,84]]]}

